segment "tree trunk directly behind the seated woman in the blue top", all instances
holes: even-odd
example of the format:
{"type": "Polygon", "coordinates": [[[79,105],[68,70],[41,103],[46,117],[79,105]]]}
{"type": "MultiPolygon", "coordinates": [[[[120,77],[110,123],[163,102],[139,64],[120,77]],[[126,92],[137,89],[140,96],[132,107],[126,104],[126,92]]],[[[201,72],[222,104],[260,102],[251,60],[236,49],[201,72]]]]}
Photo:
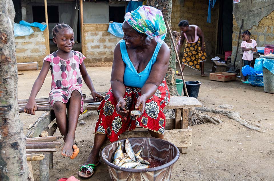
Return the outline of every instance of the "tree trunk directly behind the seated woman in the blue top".
{"type": "MultiPolygon", "coordinates": [[[[167,20],[169,26],[171,27],[172,0],[148,0],[147,5],[161,10],[164,16],[164,20],[167,20]]],[[[169,32],[166,34],[165,42],[170,48],[170,58],[168,72],[166,73],[166,82],[170,89],[170,95],[179,96],[176,88],[176,55],[172,46],[169,32]]]]}

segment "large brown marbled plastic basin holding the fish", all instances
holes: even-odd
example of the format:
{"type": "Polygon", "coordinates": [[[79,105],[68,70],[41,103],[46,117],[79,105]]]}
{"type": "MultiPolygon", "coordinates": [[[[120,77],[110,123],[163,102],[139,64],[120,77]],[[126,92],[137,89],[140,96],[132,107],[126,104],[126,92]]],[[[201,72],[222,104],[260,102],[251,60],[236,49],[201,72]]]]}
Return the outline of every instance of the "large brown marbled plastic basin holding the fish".
{"type": "MultiPolygon", "coordinates": [[[[122,151],[124,151],[124,142],[122,142],[122,151]]],[[[158,138],[133,137],[128,138],[132,145],[133,151],[136,153],[143,148],[141,157],[150,157],[158,159],[165,164],[153,168],[134,169],[124,168],[112,164],[114,153],[118,147],[118,141],[110,143],[102,150],[102,160],[108,166],[110,178],[113,181],[149,181],[149,180],[165,180],[171,179],[173,164],[177,162],[180,152],[172,143],[158,138]]]]}

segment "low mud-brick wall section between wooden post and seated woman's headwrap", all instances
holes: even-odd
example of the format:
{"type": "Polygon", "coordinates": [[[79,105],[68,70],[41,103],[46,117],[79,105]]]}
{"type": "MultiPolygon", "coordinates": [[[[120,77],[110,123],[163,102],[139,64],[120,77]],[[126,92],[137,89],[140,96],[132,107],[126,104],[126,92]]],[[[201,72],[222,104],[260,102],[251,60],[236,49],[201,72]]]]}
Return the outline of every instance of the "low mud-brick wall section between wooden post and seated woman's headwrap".
{"type": "Polygon", "coordinates": [[[107,24],[83,25],[83,50],[85,64],[91,66],[97,62],[112,62],[116,43],[122,39],[110,34],[107,24]]]}

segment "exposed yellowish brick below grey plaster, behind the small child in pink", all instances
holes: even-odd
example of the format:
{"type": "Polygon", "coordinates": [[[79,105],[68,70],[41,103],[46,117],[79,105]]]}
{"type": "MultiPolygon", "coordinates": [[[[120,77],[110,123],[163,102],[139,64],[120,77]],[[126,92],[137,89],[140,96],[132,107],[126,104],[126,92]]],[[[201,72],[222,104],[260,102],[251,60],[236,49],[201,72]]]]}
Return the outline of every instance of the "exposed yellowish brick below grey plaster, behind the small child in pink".
{"type": "MultiPolygon", "coordinates": [[[[232,34],[232,56],[231,60],[234,60],[237,50],[237,42],[239,36],[239,30],[241,27],[241,22],[236,22],[235,17],[233,15],[233,34],[232,34]]],[[[242,29],[243,32],[245,29],[242,29]]],[[[257,46],[265,46],[265,44],[274,44],[274,11],[272,11],[269,15],[263,17],[259,22],[258,26],[252,26],[249,30],[251,33],[251,39],[256,40],[257,46]]],[[[241,42],[243,40],[240,37],[239,41],[239,49],[241,49],[241,42]]],[[[236,67],[240,67],[241,65],[241,55],[237,55],[236,59],[236,67]]]]}

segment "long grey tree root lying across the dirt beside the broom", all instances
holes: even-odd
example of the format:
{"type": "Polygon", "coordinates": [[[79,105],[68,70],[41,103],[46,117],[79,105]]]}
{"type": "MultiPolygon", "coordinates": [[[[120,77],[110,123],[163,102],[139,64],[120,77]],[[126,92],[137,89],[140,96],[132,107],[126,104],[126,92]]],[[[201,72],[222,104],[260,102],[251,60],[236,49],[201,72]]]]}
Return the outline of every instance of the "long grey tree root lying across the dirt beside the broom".
{"type": "Polygon", "coordinates": [[[260,128],[254,126],[254,125],[248,124],[246,120],[241,118],[241,116],[238,112],[225,111],[225,110],[222,110],[222,109],[211,109],[211,108],[207,108],[207,107],[198,107],[196,109],[198,109],[199,111],[211,112],[211,113],[215,113],[215,114],[223,114],[223,115],[227,116],[229,119],[233,119],[233,120],[239,122],[241,125],[249,128],[249,129],[265,132],[262,129],[260,129],[260,128]]]}

